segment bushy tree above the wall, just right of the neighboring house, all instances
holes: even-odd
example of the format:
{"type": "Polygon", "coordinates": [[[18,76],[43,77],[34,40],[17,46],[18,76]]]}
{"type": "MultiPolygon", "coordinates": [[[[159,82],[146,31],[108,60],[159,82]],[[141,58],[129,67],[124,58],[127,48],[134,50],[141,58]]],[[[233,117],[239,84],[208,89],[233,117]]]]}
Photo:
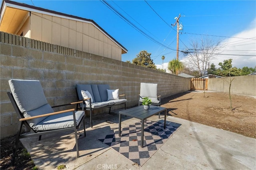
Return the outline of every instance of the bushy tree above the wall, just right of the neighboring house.
{"type": "Polygon", "coordinates": [[[153,60],[150,58],[150,55],[151,53],[148,53],[145,50],[140,51],[140,53],[136,55],[136,58],[132,59],[132,64],[156,69],[156,65],[154,64],[153,60]]]}

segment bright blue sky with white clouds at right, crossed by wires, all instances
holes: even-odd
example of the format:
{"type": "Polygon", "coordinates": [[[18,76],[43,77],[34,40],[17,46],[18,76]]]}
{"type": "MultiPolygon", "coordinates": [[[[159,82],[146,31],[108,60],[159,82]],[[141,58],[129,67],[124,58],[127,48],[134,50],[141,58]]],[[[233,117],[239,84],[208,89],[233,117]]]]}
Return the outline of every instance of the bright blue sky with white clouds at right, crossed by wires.
{"type": "MultiPolygon", "coordinates": [[[[176,58],[176,26],[172,27],[171,24],[175,23],[174,18],[181,14],[180,23],[183,25],[183,31],[179,35],[180,50],[190,48],[191,39],[214,35],[208,37],[227,44],[225,47],[227,51],[223,53],[231,54],[216,56],[212,63],[217,68],[219,62],[227,59],[233,59],[233,66],[238,68],[256,66],[255,0],[107,1],[141,31],[168,46],[169,49],[142,35],[100,0],[17,0],[17,2],[94,20],[128,50],[127,54],[122,55],[122,61],[132,61],[140,51],[146,50],[152,53],[151,58],[158,68],[162,68],[162,55],[165,56],[164,68],[167,67],[169,61],[176,58]]],[[[186,60],[186,56],[181,52],[179,60],[186,60]]]]}

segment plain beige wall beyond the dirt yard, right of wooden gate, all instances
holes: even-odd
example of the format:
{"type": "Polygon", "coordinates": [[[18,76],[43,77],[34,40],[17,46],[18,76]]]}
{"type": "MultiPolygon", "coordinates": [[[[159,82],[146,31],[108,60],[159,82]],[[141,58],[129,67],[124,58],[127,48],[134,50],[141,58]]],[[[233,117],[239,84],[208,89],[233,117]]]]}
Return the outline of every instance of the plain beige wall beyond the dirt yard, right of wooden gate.
{"type": "MultiPolygon", "coordinates": [[[[231,77],[230,93],[256,96],[256,76],[233,76],[231,77]],[[234,78],[234,80],[232,80],[234,78]]],[[[209,78],[208,90],[229,92],[230,77],[209,78]]]]}

